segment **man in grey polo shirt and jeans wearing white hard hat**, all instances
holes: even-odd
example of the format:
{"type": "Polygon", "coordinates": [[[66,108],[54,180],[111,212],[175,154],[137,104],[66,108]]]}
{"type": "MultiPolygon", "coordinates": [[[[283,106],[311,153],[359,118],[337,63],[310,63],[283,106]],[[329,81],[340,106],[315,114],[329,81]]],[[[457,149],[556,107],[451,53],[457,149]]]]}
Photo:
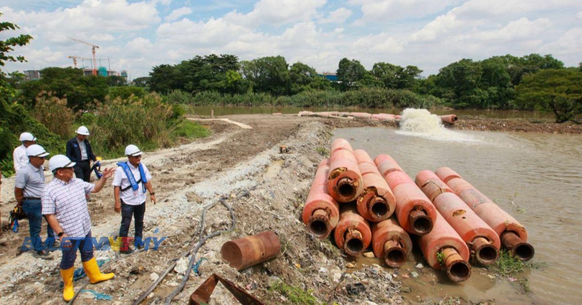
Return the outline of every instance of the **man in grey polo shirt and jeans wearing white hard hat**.
{"type": "MultiPolygon", "coordinates": [[[[47,257],[47,249],[42,245],[40,231],[42,227],[41,196],[44,191],[44,164],[49,155],[42,146],[33,144],[26,148],[26,156],[29,162],[24,164],[16,174],[14,181],[14,195],[17,205],[29,218],[30,242],[38,256],[47,257]]],[[[52,247],[55,242],[55,234],[47,224],[47,247],[52,247]]],[[[24,248],[23,251],[28,250],[24,248]]]]}

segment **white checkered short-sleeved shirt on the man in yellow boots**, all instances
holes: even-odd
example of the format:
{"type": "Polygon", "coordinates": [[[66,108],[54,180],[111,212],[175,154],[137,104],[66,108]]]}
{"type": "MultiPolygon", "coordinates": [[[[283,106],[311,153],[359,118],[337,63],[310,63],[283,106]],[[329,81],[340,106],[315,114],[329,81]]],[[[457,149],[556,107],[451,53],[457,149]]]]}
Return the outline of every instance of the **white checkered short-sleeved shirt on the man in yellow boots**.
{"type": "Polygon", "coordinates": [[[91,229],[91,218],[85,195],[93,191],[95,185],[79,178],[64,182],[54,178],[42,193],[42,214],[55,214],[65,234],[69,238],[84,238],[91,229]]]}

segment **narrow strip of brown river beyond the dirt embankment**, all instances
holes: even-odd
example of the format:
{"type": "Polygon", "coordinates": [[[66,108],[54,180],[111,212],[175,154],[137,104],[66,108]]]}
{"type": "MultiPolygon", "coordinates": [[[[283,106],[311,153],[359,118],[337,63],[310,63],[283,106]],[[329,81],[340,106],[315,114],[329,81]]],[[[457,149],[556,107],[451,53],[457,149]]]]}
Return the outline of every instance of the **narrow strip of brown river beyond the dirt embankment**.
{"type": "MultiPolygon", "coordinates": [[[[229,114],[265,114],[265,113],[298,113],[301,110],[310,111],[349,111],[349,112],[367,112],[367,113],[393,113],[399,114],[403,109],[396,108],[302,108],[302,107],[246,107],[246,106],[196,106],[191,107],[193,114],[200,116],[210,116],[210,110],[214,110],[215,116],[226,116],[229,114]]],[[[436,114],[450,114],[455,113],[457,116],[471,115],[471,116],[485,116],[498,119],[554,119],[551,112],[535,112],[535,111],[517,111],[517,110],[440,110],[435,109],[431,112],[436,114]]]]}

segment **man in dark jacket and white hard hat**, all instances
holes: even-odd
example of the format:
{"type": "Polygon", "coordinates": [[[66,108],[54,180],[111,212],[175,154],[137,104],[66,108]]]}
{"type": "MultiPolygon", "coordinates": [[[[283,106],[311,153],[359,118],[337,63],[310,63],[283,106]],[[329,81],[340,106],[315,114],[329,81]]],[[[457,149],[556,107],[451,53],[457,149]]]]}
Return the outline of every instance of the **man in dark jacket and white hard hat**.
{"type": "Polygon", "coordinates": [[[80,126],[77,128],[77,135],[67,141],[66,155],[76,163],[74,174],[77,178],[89,182],[91,179],[91,160],[95,162],[97,158],[93,155],[91,144],[87,140],[89,130],[87,127],[80,126]]]}

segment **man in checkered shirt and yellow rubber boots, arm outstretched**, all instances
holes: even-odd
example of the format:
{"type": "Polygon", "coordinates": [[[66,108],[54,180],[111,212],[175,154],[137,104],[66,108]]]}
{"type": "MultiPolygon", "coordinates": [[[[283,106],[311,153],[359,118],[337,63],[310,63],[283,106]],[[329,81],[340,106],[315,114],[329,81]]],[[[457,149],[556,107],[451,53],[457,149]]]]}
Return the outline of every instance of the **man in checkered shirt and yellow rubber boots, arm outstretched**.
{"type": "Polygon", "coordinates": [[[48,162],[55,178],[47,184],[42,193],[42,214],[61,239],[63,256],[61,277],[63,278],[63,299],[73,298],[74,261],[77,249],[81,254],[83,269],[91,284],[113,278],[113,273],[102,274],[93,256],[91,238],[91,218],[85,196],[101,191],[105,182],[113,175],[113,168],[105,168],[100,180],[90,184],[74,178],[75,163],[68,157],[56,155],[48,162]]]}

